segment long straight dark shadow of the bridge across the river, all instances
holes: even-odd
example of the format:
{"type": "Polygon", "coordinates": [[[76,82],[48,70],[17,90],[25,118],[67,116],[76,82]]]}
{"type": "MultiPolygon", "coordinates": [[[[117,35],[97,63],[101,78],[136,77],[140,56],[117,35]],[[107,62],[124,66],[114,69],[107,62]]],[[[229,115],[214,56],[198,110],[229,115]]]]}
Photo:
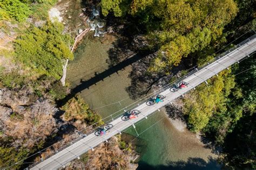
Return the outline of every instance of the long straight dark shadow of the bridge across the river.
{"type": "Polygon", "coordinates": [[[151,53],[152,51],[138,52],[136,53],[136,55],[133,55],[132,57],[123,60],[122,62],[110,67],[109,69],[101,73],[95,73],[95,76],[90,79],[80,79],[80,84],[73,88],[71,90],[71,93],[64,99],[57,101],[57,105],[61,106],[62,104],[66,103],[66,101],[76,96],[77,93],[82,92],[85,89],[89,89],[90,86],[96,85],[99,81],[104,81],[104,78],[111,77],[113,73],[118,74],[118,71],[125,69],[125,67],[136,63],[138,60],[150,55],[151,53]]]}

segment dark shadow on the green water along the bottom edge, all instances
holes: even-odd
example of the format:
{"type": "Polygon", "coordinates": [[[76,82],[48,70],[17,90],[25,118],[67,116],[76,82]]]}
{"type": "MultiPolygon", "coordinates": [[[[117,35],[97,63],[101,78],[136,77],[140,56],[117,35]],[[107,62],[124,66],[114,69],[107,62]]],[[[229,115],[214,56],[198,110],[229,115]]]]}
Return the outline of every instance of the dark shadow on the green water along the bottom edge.
{"type": "Polygon", "coordinates": [[[201,158],[188,158],[187,161],[170,161],[166,165],[157,165],[152,166],[147,164],[146,162],[139,162],[139,166],[137,170],[151,170],[151,169],[159,169],[159,170],[215,170],[221,169],[221,166],[218,164],[217,160],[208,157],[208,161],[205,161],[201,158]]]}

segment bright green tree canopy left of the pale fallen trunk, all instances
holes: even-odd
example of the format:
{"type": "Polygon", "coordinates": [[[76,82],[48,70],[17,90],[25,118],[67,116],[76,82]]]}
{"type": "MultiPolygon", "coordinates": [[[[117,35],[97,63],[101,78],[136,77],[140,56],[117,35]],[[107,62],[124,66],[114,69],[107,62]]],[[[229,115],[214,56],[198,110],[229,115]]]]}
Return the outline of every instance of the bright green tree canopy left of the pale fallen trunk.
{"type": "Polygon", "coordinates": [[[72,40],[62,35],[63,25],[47,22],[42,28],[32,27],[15,41],[16,58],[39,75],[59,79],[65,59],[73,59],[72,40]]]}

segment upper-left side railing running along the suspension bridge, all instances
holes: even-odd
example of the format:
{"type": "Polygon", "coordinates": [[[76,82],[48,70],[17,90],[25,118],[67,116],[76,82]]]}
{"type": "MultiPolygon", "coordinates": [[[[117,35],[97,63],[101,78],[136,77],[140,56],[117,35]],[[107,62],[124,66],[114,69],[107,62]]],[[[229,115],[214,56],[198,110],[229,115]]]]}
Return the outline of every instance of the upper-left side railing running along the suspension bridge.
{"type": "MultiPolygon", "coordinates": [[[[253,36],[245,39],[244,41],[242,41],[241,43],[237,44],[237,45],[234,45],[231,49],[221,53],[218,57],[214,57],[213,59],[207,61],[206,63],[202,64],[202,65],[196,65],[196,66],[193,66],[191,69],[188,69],[188,73],[186,73],[184,76],[181,76],[179,78],[177,78],[176,80],[172,81],[171,83],[161,87],[159,90],[157,91],[154,91],[150,94],[147,94],[146,96],[144,96],[143,98],[135,101],[134,103],[122,108],[121,110],[115,112],[115,113],[112,113],[110,114],[109,116],[107,116],[106,118],[104,118],[102,121],[104,122],[103,125],[107,125],[107,124],[110,124],[111,121],[115,120],[115,119],[118,119],[120,117],[122,117],[122,115],[124,115],[124,113],[126,111],[131,111],[133,110],[134,108],[138,107],[139,105],[142,105],[144,104],[147,100],[149,100],[150,97],[152,96],[156,96],[157,94],[167,90],[167,89],[170,89],[170,87],[172,87],[173,85],[176,85],[178,83],[180,83],[180,81],[182,81],[183,79],[187,78],[187,77],[190,77],[192,76],[194,73],[200,71],[201,69],[203,69],[205,66],[209,65],[209,64],[212,64],[214,63],[215,61],[219,60],[220,58],[226,56],[228,53],[234,51],[234,50],[237,50],[238,47],[242,46],[242,45],[245,45],[246,43],[250,42],[252,39],[256,38],[256,35],[254,34],[253,36]]],[[[248,54],[250,55],[250,54],[248,54]]],[[[40,162],[50,158],[52,155],[62,151],[63,149],[71,146],[72,144],[74,144],[75,142],[79,141],[80,139],[83,139],[85,138],[87,135],[95,132],[97,129],[98,129],[98,126],[99,124],[98,123],[95,123],[91,126],[88,126],[86,128],[84,128],[83,130],[80,130],[80,131],[77,131],[76,133],[74,134],[71,134],[70,137],[68,137],[67,139],[63,139],[61,141],[58,141],[56,144],[53,144],[45,149],[43,149],[43,152],[38,152],[36,154],[33,155],[33,158],[41,158],[39,159],[37,162],[35,162],[34,164],[31,164],[29,166],[30,167],[33,167],[33,166],[36,166],[37,164],[39,164],[40,162]],[[50,150],[50,151],[49,151],[50,150]],[[52,152],[53,151],[53,152],[52,152]]]]}

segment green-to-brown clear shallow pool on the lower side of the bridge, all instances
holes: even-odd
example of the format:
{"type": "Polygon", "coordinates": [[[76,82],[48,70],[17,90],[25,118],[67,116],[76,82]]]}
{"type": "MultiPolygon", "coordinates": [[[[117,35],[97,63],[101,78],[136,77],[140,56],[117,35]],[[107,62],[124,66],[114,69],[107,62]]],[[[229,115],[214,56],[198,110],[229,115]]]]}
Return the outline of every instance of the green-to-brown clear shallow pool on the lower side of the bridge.
{"type": "MultiPolygon", "coordinates": [[[[177,131],[163,111],[141,121],[136,128],[138,133],[149,128],[139,136],[146,141],[147,149],[138,169],[220,169],[215,161],[216,155],[206,149],[193,133],[177,131]]],[[[132,128],[128,131],[136,135],[132,128]]]]}

